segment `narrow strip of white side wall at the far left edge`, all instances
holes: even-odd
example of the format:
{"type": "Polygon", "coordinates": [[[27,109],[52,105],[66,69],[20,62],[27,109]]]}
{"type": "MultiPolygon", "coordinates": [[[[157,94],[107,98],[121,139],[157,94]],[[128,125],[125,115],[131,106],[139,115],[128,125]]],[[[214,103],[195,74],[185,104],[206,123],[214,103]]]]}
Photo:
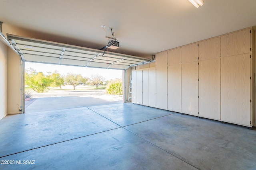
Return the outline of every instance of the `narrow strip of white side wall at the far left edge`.
{"type": "Polygon", "coordinates": [[[7,47],[0,41],[0,119],[7,115],[7,47]]]}

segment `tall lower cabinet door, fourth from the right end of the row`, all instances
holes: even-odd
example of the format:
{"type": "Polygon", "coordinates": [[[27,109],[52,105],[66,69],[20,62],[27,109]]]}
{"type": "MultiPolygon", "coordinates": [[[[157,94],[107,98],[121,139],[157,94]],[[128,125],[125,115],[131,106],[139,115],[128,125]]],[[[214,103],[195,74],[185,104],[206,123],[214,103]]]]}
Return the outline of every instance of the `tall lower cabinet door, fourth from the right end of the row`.
{"type": "Polygon", "coordinates": [[[168,66],[168,110],[181,112],[181,64],[168,66]]]}

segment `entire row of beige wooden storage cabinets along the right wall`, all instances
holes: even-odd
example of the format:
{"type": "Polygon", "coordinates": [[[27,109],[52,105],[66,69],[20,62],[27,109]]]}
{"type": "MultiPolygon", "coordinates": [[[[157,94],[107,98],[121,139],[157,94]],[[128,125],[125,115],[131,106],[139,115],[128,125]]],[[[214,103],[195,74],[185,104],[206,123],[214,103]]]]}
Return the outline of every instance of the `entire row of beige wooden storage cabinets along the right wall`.
{"type": "Polygon", "coordinates": [[[132,102],[252,127],[255,48],[250,27],[157,53],[155,68],[132,72],[132,102]]]}

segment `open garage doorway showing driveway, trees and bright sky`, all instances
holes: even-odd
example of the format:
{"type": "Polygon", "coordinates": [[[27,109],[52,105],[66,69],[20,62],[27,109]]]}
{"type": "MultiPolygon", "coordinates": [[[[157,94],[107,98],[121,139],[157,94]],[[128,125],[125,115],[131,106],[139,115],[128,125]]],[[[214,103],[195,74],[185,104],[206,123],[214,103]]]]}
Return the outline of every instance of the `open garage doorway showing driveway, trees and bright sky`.
{"type": "Polygon", "coordinates": [[[122,70],[25,62],[26,113],[123,102],[122,74],[122,70]],[[48,84],[42,90],[36,81],[48,84]],[[111,94],[117,83],[120,93],[111,94]]]}

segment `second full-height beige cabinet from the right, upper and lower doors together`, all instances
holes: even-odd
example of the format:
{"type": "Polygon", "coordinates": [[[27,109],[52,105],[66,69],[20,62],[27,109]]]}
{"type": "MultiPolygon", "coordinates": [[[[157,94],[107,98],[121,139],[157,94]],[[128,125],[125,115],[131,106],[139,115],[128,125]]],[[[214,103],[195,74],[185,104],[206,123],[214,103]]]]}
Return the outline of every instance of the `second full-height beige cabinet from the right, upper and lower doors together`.
{"type": "Polygon", "coordinates": [[[198,116],[220,120],[220,37],[198,43],[198,116]]]}

